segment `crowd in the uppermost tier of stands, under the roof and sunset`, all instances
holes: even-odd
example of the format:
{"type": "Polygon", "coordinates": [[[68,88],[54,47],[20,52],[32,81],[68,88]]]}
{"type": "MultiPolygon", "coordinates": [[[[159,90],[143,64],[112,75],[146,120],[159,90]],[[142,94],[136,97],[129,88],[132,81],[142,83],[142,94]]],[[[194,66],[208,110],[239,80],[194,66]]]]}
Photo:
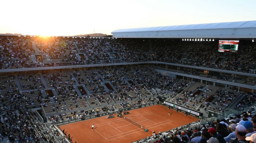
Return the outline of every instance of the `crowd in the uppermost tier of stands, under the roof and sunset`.
{"type": "MultiPolygon", "coordinates": [[[[217,42],[183,42],[177,40],[36,40],[37,51],[53,63],[43,66],[64,66],[115,62],[164,61],[207,68],[255,74],[255,44],[243,44],[237,53],[220,53],[217,42]],[[76,53],[86,58],[79,59],[76,53]],[[221,60],[219,60],[221,59],[221,60]],[[62,63],[63,62],[63,63],[62,63]]],[[[38,67],[31,62],[35,53],[32,40],[1,39],[2,69],[38,67]]]]}

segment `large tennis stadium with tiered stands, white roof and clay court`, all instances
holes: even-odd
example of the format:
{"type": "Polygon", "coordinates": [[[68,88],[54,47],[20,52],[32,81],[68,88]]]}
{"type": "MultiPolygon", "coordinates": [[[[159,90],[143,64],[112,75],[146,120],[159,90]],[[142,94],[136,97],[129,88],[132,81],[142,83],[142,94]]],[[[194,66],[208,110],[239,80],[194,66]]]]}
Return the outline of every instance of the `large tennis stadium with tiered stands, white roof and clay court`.
{"type": "Polygon", "coordinates": [[[111,38],[1,36],[3,141],[167,143],[246,121],[256,110],[255,33],[256,21],[241,21],[111,38]]]}

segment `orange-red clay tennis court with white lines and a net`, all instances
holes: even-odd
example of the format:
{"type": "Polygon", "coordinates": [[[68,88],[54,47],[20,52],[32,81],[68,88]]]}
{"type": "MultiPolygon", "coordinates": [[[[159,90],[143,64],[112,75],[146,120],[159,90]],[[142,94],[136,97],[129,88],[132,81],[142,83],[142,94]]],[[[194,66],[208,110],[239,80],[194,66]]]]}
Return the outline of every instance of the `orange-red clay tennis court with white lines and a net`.
{"type": "Polygon", "coordinates": [[[116,116],[109,119],[106,116],[102,116],[61,125],[59,128],[61,130],[65,129],[67,135],[70,134],[73,143],[95,141],[101,143],[130,143],[151,136],[153,130],[156,133],[159,131],[163,132],[198,120],[190,115],[185,116],[183,112],[176,113],[176,110],[168,109],[163,105],[130,110],[129,113],[125,116],[143,125],[144,128],[148,129],[148,132],[145,132],[139,126],[130,123],[124,118],[116,116]],[[170,111],[170,116],[168,111],[170,111]],[[94,124],[94,131],[91,130],[92,124],[94,124]]]}

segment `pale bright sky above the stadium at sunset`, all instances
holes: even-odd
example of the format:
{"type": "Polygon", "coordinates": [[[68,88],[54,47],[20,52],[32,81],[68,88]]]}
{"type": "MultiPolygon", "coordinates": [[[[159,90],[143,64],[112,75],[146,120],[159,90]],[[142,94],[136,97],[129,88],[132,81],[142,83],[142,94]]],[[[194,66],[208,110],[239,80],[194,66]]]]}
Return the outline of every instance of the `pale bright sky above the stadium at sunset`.
{"type": "Polygon", "coordinates": [[[0,33],[75,36],[185,24],[256,20],[255,0],[5,0],[0,33]]]}

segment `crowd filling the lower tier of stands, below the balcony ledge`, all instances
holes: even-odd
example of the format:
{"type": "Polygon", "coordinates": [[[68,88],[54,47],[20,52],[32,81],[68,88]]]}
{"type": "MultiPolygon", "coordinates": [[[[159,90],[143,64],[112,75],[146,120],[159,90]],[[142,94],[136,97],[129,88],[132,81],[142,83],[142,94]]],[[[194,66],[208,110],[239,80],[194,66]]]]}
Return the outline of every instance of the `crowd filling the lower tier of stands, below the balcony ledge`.
{"type": "MultiPolygon", "coordinates": [[[[236,107],[247,107],[255,101],[255,94],[220,89],[212,85],[205,86],[202,83],[161,75],[154,70],[154,67],[148,65],[86,71],[44,71],[42,75],[39,73],[17,75],[17,80],[21,83],[21,91],[18,89],[14,75],[1,76],[2,103],[12,105],[10,111],[22,106],[42,105],[45,112],[51,114],[49,119],[57,122],[158,101],[148,92],[150,88],[159,88],[162,93],[170,92],[175,95],[173,99],[170,98],[172,102],[196,110],[205,107],[200,105],[210,96],[216,98],[213,104],[223,107],[221,111],[240,96],[244,98],[236,107]],[[42,77],[46,83],[43,83],[42,77]],[[106,91],[102,85],[103,81],[110,82],[117,90],[106,91]],[[41,90],[46,89],[46,85],[56,90],[56,93],[47,92],[43,95],[41,90]],[[90,94],[79,96],[74,88],[77,85],[87,87],[90,94]],[[164,89],[167,91],[164,92],[164,89]],[[197,90],[202,92],[195,94],[197,90]],[[93,107],[97,105],[104,106],[93,107]]],[[[46,137],[46,139],[51,138],[46,137]]]]}

